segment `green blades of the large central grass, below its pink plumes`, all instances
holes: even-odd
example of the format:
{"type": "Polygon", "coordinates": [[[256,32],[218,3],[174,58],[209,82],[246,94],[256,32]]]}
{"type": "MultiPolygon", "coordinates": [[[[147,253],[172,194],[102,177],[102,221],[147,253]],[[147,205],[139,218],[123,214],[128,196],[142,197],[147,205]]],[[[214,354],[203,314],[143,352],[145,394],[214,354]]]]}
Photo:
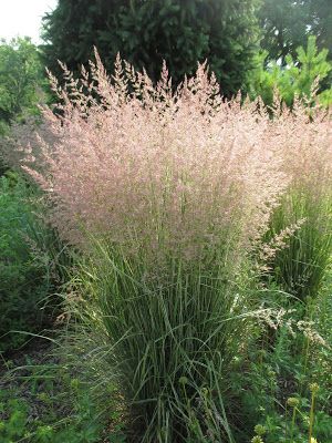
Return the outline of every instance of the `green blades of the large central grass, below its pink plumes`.
{"type": "Polygon", "coordinates": [[[174,259],[164,281],[145,281],[142,261],[98,246],[82,268],[80,315],[108,349],[136,439],[232,442],[230,374],[250,336],[250,305],[221,265],[186,265],[174,259]]]}

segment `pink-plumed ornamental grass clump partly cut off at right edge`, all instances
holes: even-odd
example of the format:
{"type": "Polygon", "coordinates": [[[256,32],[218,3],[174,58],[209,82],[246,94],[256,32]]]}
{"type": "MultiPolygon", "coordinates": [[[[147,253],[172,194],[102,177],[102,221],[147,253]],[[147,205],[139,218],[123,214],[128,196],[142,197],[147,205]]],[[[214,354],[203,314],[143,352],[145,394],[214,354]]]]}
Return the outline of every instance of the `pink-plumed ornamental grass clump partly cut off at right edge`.
{"type": "Polygon", "coordinates": [[[331,112],[297,102],[274,115],[272,132],[290,178],[271,217],[269,235],[297,226],[284,248],[273,254],[272,276],[299,300],[321,289],[332,254],[331,112]]]}

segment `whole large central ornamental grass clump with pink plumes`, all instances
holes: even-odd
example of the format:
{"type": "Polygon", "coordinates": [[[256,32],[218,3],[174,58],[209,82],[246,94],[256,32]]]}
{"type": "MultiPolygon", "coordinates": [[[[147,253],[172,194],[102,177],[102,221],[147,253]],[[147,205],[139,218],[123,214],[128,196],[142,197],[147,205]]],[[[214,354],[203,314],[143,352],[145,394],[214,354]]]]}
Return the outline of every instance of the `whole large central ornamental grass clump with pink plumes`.
{"type": "Polygon", "coordinates": [[[205,65],[176,91],[165,66],[156,85],[120,59],[108,76],[97,54],[80,80],[63,68],[48,137],[21,144],[24,167],[87,257],[84,318],[108,348],[135,441],[232,442],[250,258],[289,183],[273,122],[221,100],[205,65]]]}

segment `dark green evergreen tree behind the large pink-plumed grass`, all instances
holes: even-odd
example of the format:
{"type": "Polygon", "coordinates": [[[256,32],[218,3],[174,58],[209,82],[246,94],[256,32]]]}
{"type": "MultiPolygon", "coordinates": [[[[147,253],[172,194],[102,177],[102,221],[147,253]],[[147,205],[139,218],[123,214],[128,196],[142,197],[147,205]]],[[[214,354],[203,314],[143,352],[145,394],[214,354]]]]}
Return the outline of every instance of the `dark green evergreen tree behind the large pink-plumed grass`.
{"type": "Polygon", "coordinates": [[[75,71],[95,45],[106,68],[117,52],[153,80],[166,60],[175,83],[208,60],[222,93],[236,93],[259,40],[260,0],[59,0],[44,18],[45,63],[75,71]]]}

